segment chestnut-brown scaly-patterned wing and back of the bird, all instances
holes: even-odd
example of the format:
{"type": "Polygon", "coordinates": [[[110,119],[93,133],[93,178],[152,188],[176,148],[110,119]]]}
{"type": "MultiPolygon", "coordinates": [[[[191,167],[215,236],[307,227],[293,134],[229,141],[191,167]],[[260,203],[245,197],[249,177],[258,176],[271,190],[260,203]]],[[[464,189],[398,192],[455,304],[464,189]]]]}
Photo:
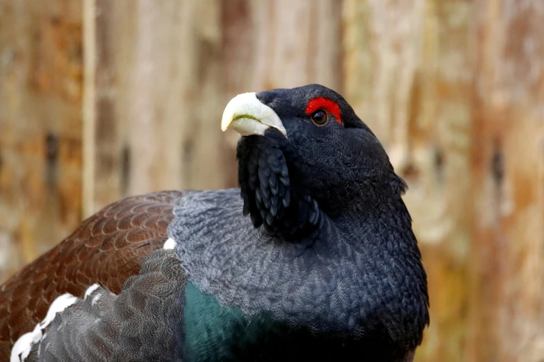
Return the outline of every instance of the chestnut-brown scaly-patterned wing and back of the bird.
{"type": "Polygon", "coordinates": [[[94,283],[119,293],[140,259],[161,248],[184,193],[163,191],[115,202],[83,221],[62,243],[0,286],[0,361],[34,329],[59,295],[83,298],[94,283]]]}

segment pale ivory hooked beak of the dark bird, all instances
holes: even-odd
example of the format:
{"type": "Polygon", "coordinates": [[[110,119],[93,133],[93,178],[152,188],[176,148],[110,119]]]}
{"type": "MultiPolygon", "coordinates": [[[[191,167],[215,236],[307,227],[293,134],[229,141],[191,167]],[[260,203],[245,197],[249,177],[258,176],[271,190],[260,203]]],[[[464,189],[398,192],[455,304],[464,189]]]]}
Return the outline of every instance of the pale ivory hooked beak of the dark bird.
{"type": "Polygon", "coordinates": [[[257,99],[256,93],[242,93],[231,99],[223,111],[221,130],[236,130],[241,136],[264,135],[268,128],[287,131],[272,108],[257,99]]]}

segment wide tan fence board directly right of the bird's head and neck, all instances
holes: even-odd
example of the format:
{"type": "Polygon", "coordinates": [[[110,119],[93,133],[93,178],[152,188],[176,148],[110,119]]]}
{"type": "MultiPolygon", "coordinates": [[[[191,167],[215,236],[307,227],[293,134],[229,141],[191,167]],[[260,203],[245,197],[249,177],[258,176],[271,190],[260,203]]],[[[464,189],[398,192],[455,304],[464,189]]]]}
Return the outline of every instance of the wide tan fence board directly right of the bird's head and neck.
{"type": "Polygon", "coordinates": [[[345,96],[409,184],[431,300],[417,361],[464,358],[471,11],[462,0],[347,0],[343,12],[345,96]]]}

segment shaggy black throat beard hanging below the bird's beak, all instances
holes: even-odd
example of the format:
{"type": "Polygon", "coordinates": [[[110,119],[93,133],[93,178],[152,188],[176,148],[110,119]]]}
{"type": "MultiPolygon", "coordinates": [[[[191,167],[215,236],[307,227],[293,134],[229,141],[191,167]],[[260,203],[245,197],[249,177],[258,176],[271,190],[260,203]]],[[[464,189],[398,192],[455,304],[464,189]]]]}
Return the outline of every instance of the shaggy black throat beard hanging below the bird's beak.
{"type": "Polygon", "coordinates": [[[317,230],[322,218],[318,202],[293,182],[296,151],[279,132],[243,137],[238,143],[238,183],[244,215],[272,236],[300,239],[317,230]],[[276,134],[277,133],[277,134],[276,134]]]}

